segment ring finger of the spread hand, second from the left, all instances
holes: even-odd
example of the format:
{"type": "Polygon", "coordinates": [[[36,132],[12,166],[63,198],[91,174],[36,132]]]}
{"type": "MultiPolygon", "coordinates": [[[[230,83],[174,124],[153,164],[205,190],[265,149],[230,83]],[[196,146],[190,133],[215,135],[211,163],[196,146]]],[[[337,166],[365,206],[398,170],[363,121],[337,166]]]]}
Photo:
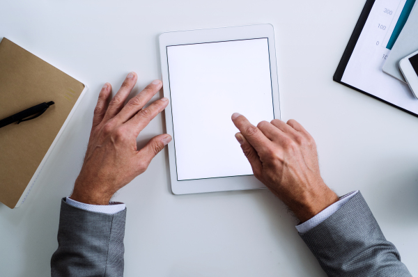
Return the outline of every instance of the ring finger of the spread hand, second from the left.
{"type": "Polygon", "coordinates": [[[125,81],[121,88],[118,90],[118,93],[113,97],[113,99],[109,103],[109,107],[107,108],[106,114],[104,115],[103,120],[107,121],[111,118],[114,118],[116,114],[121,111],[123,108],[123,103],[127,98],[127,95],[130,94],[132,88],[134,88],[135,84],[137,84],[137,74],[135,72],[130,72],[127,74],[125,81]]]}

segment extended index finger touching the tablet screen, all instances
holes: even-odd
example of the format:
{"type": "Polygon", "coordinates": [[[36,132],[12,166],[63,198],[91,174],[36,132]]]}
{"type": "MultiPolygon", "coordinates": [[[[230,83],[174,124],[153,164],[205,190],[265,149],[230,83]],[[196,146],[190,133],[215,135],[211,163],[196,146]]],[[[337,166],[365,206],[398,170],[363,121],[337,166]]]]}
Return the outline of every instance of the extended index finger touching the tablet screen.
{"type": "Polygon", "coordinates": [[[263,132],[252,125],[245,116],[240,113],[233,113],[233,124],[240,130],[240,133],[247,139],[249,144],[257,151],[258,154],[265,152],[265,148],[270,145],[271,141],[265,137],[263,132]]]}

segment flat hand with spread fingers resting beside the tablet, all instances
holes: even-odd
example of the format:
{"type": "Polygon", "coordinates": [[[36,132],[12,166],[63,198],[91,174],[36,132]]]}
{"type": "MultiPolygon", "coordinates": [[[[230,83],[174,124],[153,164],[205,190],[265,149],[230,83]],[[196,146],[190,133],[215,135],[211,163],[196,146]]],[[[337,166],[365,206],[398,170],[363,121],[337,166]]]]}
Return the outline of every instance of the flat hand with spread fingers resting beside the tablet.
{"type": "Polygon", "coordinates": [[[108,205],[111,196],[144,173],[153,157],[171,141],[169,134],[161,134],[137,149],[137,136],[166,108],[169,100],[164,97],[144,108],[162,87],[162,82],[155,80],[123,106],[136,83],[137,74],[131,72],[109,104],[110,84],[104,84],[100,91],[86,157],[71,199],[108,205]]]}

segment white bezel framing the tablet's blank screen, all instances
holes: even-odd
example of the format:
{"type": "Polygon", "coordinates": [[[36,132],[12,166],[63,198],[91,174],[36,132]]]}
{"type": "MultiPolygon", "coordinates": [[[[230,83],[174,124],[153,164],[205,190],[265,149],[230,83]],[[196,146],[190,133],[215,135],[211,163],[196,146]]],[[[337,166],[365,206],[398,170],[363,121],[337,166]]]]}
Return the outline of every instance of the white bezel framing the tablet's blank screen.
{"type": "MultiPolygon", "coordinates": [[[[174,31],[160,35],[160,58],[162,82],[164,84],[164,97],[169,99],[165,109],[167,134],[173,137],[169,143],[169,168],[171,191],[173,194],[204,193],[214,191],[235,191],[245,189],[262,189],[265,186],[254,175],[214,177],[199,180],[177,180],[175,138],[173,134],[173,117],[171,113],[171,95],[169,82],[169,67],[167,61],[167,47],[173,45],[187,45],[205,42],[224,42],[231,40],[248,40],[255,38],[268,38],[270,56],[270,77],[272,80],[272,97],[274,118],[280,119],[279,84],[277,78],[276,47],[274,42],[274,29],[271,24],[258,24],[249,26],[234,26],[214,29],[199,29],[190,31],[174,31]]],[[[237,130],[238,132],[238,130],[237,130]]],[[[242,154],[244,155],[244,154],[242,154]]]]}

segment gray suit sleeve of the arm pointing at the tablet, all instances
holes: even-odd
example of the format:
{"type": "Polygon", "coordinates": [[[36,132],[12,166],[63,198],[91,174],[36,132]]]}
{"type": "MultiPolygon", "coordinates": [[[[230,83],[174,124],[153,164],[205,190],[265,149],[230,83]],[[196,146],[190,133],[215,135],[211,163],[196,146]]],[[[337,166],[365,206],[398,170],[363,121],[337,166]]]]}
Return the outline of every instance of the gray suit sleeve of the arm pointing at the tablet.
{"type": "Polygon", "coordinates": [[[328,276],[411,276],[359,192],[300,237],[328,276]]]}

